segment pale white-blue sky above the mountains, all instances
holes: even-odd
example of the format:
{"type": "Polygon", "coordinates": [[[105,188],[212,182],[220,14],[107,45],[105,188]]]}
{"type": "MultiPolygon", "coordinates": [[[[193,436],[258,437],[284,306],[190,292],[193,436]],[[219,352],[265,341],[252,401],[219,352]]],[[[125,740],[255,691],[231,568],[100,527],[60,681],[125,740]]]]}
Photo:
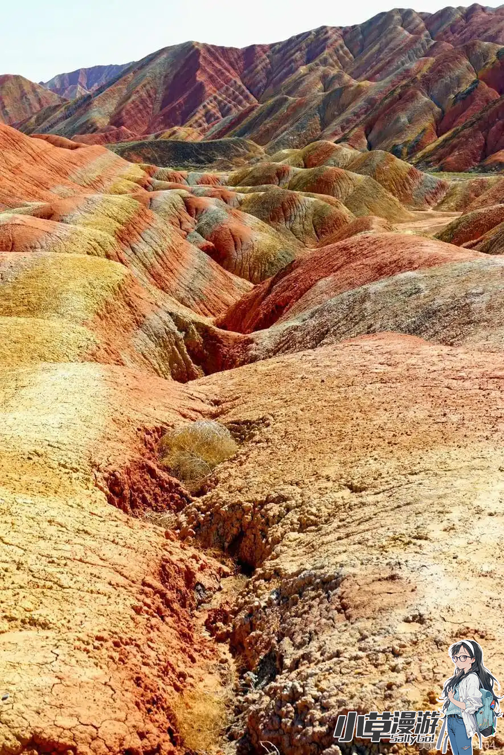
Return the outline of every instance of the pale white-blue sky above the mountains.
{"type": "MultiPolygon", "coordinates": [[[[128,63],[189,39],[244,47],[317,26],[349,26],[397,7],[390,0],[6,0],[0,73],[57,73],[128,63]]],[[[418,0],[416,11],[447,2],[418,0]]],[[[470,3],[468,3],[470,5],[470,3]]],[[[408,6],[407,6],[408,7],[408,6]]]]}

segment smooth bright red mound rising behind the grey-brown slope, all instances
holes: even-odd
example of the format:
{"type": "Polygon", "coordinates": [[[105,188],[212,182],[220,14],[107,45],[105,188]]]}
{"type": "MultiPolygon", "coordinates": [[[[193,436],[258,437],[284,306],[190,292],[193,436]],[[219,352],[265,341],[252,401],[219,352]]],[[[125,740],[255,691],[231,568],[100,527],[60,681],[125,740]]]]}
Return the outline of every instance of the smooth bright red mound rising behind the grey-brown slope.
{"type": "Polygon", "coordinates": [[[407,234],[352,236],[291,263],[245,294],[218,324],[251,333],[351,288],[406,270],[472,260],[475,256],[450,244],[407,234]]]}

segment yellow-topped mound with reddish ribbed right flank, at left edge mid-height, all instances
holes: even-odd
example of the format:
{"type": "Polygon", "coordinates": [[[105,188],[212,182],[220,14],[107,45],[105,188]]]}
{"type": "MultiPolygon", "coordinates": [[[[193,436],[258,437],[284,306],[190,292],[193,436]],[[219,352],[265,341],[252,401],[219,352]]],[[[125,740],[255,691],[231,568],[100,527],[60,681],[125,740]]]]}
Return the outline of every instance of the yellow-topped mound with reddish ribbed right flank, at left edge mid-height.
{"type": "Polygon", "coordinates": [[[0,252],[0,273],[2,357],[10,364],[101,362],[183,383],[218,367],[226,334],[158,289],[140,286],[124,265],[56,250],[15,251],[0,252]]]}

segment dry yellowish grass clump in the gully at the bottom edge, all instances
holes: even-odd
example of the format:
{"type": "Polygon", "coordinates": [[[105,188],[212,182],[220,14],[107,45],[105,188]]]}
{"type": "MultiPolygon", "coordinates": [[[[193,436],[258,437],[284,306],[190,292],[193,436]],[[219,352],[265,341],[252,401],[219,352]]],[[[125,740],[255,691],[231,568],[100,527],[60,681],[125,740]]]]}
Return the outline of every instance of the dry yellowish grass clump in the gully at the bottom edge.
{"type": "Polygon", "coordinates": [[[222,696],[192,690],[171,701],[171,707],[186,747],[198,753],[220,751],[220,739],[229,723],[229,710],[222,696]]]}

